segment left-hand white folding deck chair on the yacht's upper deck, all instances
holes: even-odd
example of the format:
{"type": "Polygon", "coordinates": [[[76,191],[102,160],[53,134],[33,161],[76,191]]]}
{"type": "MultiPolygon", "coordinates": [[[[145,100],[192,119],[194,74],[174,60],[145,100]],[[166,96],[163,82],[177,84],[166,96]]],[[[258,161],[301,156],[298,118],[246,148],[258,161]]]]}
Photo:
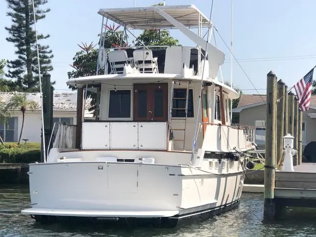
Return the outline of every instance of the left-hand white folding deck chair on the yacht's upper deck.
{"type": "Polygon", "coordinates": [[[123,73],[124,65],[128,65],[127,52],[125,50],[116,50],[108,53],[108,61],[111,66],[110,74],[123,73]]]}

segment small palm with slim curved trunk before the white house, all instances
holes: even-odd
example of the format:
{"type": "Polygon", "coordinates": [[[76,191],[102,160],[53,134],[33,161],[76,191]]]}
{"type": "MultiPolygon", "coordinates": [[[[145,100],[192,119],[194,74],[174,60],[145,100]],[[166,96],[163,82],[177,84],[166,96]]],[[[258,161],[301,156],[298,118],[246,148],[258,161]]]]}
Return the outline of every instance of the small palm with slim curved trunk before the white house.
{"type": "Polygon", "coordinates": [[[35,101],[28,101],[26,99],[26,94],[14,94],[10,102],[8,103],[7,108],[10,111],[19,109],[22,112],[22,127],[21,127],[21,132],[20,132],[20,136],[18,140],[18,144],[20,144],[23,127],[24,127],[25,111],[26,110],[34,111],[37,108],[37,103],[35,101]]]}

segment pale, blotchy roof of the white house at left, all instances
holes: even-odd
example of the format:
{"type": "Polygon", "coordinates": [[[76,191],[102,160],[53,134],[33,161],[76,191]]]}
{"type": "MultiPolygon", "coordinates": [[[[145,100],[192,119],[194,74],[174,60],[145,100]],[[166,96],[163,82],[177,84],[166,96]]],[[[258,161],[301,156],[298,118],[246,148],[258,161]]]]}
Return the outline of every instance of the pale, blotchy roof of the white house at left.
{"type": "MultiPolygon", "coordinates": [[[[0,92],[0,102],[8,104],[14,94],[24,95],[23,92],[0,92]]],[[[40,93],[25,93],[28,101],[35,101],[38,110],[41,109],[40,93]]],[[[87,100],[85,109],[90,107],[91,99],[87,100]]],[[[54,111],[76,111],[77,110],[77,93],[76,92],[54,92],[53,98],[54,111]]]]}

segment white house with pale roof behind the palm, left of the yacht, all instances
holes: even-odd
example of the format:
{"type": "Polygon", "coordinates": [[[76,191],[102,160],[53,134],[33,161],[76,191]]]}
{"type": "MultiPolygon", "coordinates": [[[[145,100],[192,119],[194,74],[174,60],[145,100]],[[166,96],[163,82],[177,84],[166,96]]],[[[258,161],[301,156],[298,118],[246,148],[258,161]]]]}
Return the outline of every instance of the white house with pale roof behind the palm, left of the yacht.
{"type": "MultiPolygon", "coordinates": [[[[8,104],[14,94],[18,92],[0,92],[0,103],[8,104]]],[[[24,93],[19,93],[24,94],[24,93]]],[[[35,111],[25,112],[24,128],[21,139],[28,139],[27,142],[41,142],[41,99],[40,93],[25,93],[26,99],[35,101],[38,107],[35,111]]],[[[91,116],[88,112],[90,100],[85,106],[85,116],[91,116]]],[[[53,96],[53,123],[62,122],[76,124],[77,117],[77,93],[58,93],[53,96]]],[[[6,126],[0,121],[0,136],[5,142],[17,142],[22,127],[22,112],[19,109],[13,111],[6,126]]],[[[55,126],[54,130],[58,129],[55,126]]]]}

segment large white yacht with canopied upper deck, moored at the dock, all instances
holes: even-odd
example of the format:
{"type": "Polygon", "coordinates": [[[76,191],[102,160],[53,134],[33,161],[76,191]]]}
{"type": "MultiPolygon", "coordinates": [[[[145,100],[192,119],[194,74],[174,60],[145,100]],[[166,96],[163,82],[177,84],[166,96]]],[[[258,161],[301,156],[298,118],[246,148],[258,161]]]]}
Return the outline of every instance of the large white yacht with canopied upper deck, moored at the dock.
{"type": "Polygon", "coordinates": [[[231,124],[228,101],[239,94],[217,78],[224,53],[202,37],[213,33],[209,19],[193,5],[98,13],[96,75],[67,81],[78,92],[76,125],[59,124],[45,163],[30,164],[22,214],[173,227],[236,206],[253,128],[231,124]],[[177,29],[195,45],[107,49],[108,20],[125,33],[177,29]],[[88,91],[94,120],[84,119],[88,91]]]}

